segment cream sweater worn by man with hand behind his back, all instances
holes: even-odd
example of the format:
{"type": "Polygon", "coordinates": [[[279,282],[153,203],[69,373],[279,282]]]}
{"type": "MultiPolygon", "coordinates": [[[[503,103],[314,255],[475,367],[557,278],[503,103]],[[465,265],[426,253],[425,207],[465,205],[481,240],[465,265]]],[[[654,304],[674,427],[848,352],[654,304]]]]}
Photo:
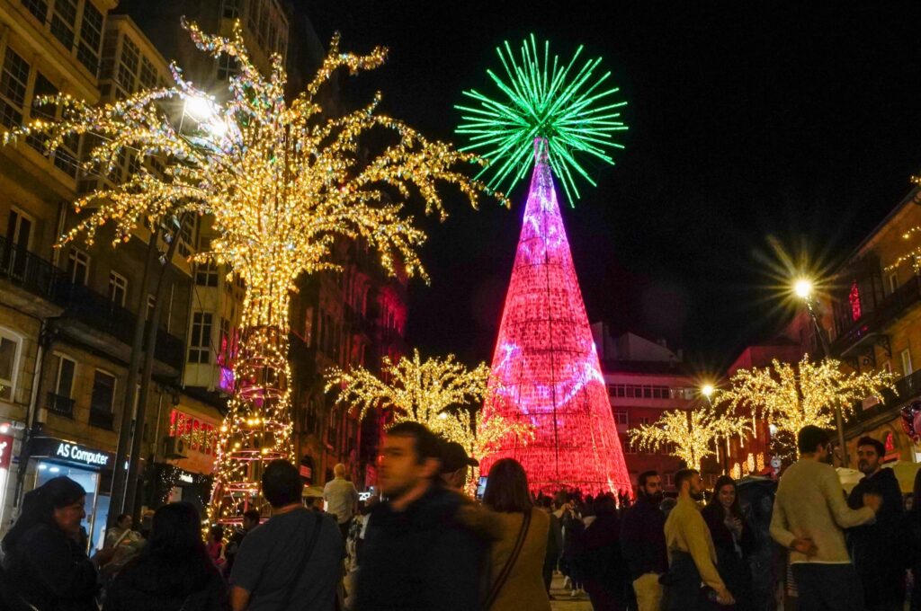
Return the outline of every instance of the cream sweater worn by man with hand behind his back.
{"type": "Polygon", "coordinates": [[[785,548],[793,539],[809,537],[819,548],[815,556],[790,552],[790,562],[846,564],[851,560],[842,529],[866,524],[875,513],[869,507],[851,510],[834,467],[800,459],[787,468],[774,501],[771,536],[785,548]]]}

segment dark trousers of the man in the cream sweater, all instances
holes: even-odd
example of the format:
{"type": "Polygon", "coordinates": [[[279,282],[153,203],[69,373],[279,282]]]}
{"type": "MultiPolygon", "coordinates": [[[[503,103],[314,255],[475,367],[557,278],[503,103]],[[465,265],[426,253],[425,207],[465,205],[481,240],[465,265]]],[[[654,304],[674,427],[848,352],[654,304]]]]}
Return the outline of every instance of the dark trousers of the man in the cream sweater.
{"type": "Polygon", "coordinates": [[[798,562],[793,565],[800,611],[864,611],[863,587],[854,565],[798,562]]]}

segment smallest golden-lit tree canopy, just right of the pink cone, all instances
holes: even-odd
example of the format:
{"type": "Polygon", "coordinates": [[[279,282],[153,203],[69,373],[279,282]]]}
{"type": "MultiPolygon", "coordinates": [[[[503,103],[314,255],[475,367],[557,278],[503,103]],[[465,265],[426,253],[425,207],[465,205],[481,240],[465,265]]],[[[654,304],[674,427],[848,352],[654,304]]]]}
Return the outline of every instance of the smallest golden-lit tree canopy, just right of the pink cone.
{"type": "Polygon", "coordinates": [[[630,442],[639,450],[654,452],[673,448],[689,468],[700,468],[709,455],[717,454],[720,440],[733,435],[744,437],[752,432],[748,421],[731,413],[719,413],[709,403],[695,409],[665,411],[658,421],[642,424],[628,433],[630,442]]]}

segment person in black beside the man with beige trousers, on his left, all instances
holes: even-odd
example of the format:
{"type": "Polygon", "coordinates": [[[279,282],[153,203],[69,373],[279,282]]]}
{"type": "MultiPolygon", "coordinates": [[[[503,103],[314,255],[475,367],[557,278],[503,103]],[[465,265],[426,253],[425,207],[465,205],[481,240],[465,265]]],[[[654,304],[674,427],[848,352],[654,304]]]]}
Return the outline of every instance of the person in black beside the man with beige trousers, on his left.
{"type": "Polygon", "coordinates": [[[595,611],[623,611],[628,571],[621,554],[621,521],[613,494],[595,498],[595,519],[585,529],[582,582],[595,611]]]}

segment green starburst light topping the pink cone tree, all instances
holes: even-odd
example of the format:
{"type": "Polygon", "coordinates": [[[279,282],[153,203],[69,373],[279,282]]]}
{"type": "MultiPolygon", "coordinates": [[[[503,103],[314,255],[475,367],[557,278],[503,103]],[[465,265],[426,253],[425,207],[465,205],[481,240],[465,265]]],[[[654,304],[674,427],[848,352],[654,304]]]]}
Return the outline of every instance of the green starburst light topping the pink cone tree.
{"type": "Polygon", "coordinates": [[[569,202],[579,198],[576,175],[595,181],[579,163],[578,157],[591,156],[609,164],[612,148],[624,148],[613,135],[627,129],[618,109],[625,101],[615,101],[617,87],[605,88],[610,72],[594,76],[600,58],[589,60],[576,69],[582,52],[580,46],[567,64],[550,56],[550,42],[543,43],[543,57],[534,35],[524,40],[520,63],[508,42],[505,49],[496,47],[505,68],[506,79],[487,74],[505,98],[497,101],[471,89],[463,95],[479,102],[476,108],[457,106],[463,112],[457,133],[469,134],[465,151],[484,156],[488,165],[477,175],[487,176],[492,190],[506,192],[525,178],[534,158],[534,141],[547,147],[550,166],[563,184],[569,202]]]}

